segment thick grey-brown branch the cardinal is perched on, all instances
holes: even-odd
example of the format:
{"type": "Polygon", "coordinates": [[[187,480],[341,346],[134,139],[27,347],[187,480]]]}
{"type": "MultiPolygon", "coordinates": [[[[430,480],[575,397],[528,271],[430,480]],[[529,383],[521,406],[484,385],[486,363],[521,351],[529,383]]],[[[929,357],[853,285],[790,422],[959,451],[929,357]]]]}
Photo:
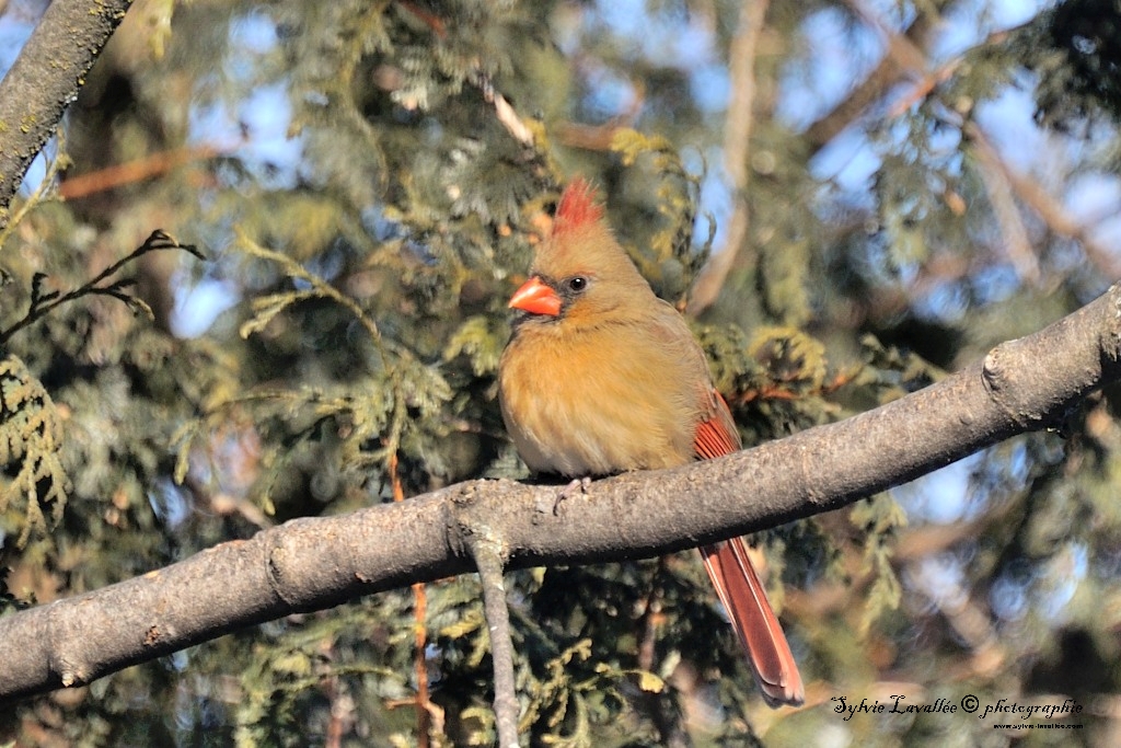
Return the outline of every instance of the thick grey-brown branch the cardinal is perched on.
{"type": "Polygon", "coordinates": [[[474,571],[489,527],[510,567],[650,556],[852,504],[1015,434],[1121,379],[1121,286],[965,370],[841,423],[720,460],[554,486],[476,480],[296,519],[166,569],[0,619],[0,702],[87,683],[228,631],[474,571]]]}

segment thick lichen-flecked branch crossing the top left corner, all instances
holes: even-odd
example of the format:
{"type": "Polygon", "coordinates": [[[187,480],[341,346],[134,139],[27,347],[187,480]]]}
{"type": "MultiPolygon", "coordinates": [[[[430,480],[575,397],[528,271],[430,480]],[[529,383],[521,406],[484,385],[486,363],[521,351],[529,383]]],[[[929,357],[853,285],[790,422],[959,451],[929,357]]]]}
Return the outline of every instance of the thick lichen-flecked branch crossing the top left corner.
{"type": "Polygon", "coordinates": [[[55,0],[0,80],[0,229],[7,205],[131,0],[55,0]]]}

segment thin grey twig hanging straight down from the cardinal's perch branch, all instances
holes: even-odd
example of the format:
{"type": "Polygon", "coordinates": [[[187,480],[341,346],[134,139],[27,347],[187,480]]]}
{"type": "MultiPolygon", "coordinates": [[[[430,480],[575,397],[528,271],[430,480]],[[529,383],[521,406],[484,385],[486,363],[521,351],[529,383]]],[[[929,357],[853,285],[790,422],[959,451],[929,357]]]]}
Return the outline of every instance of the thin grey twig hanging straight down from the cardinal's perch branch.
{"type": "Polygon", "coordinates": [[[483,612],[494,664],[494,720],[499,748],[518,748],[518,694],[513,680],[513,640],[502,578],[503,550],[490,527],[467,528],[467,550],[483,585],[483,612]]]}

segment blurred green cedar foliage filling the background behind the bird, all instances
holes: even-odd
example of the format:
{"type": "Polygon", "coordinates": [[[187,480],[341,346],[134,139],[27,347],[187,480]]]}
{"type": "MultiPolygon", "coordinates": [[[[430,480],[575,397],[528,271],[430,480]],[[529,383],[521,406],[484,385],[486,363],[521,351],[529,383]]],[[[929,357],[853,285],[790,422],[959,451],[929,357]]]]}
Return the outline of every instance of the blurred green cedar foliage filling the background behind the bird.
{"type": "MultiPolygon", "coordinates": [[[[138,3],[0,247],[3,609],[293,517],[524,474],[494,373],[506,299],[560,185],[581,173],[601,186],[674,303],[720,244],[701,195],[723,111],[696,75],[726,67],[740,3],[647,2],[638,29],[609,22],[610,4],[138,3]],[[708,34],[715,59],[667,62],[682,29],[708,34]],[[154,178],[53,198],[176,149],[188,157],[154,178]],[[157,228],[203,255],[140,251],[157,228]],[[195,285],[229,306],[191,336],[177,315],[203,311],[176,312],[177,294],[195,285]]],[[[824,93],[812,25],[853,48],[870,33],[845,4],[772,6],[756,50],[749,233],[696,326],[749,444],[921,387],[1103,287],[1097,260],[1022,196],[1035,273],[1004,251],[1008,214],[971,130],[986,103],[1037,95],[1067,154],[1050,165],[1056,194],[1118,170],[1102,83],[1115,39],[1086,36],[1099,12],[1115,25],[1109,3],[1062,3],[982,38],[925,95],[873,107],[854,127],[874,166],[855,184],[819,167],[778,102],[824,93]]],[[[1112,396],[1073,415],[1071,440],[970,461],[948,520],[933,507],[944,484],[919,483],[759,538],[812,684],[796,714],[760,709],[695,554],[510,574],[531,745],[736,746],[765,731],[795,745],[825,729],[855,745],[994,740],[981,720],[831,711],[828,696],[877,698],[879,681],[911,684],[911,701],[1106,703],[1121,677],[1112,396]],[[908,551],[932,528],[951,539],[908,551]]],[[[0,741],[410,746],[426,724],[430,745],[491,745],[476,582],[425,588],[426,720],[410,703],[416,595],[293,616],[20,704],[0,715],[0,741]]],[[[1074,739],[1087,744],[1114,729],[1085,723],[1074,739]]],[[[1021,737],[1051,739],[1040,735],[1021,737]]]]}

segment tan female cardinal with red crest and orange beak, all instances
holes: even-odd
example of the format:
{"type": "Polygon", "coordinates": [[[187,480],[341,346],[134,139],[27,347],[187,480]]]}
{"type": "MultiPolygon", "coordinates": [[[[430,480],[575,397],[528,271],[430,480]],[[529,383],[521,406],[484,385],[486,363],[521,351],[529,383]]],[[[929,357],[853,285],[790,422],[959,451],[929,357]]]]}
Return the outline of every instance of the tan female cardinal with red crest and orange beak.
{"type": "MultiPolygon", "coordinates": [[[[502,417],[535,472],[586,479],[740,449],[682,315],[655,296],[584,181],[560,196],[499,364],[502,417]]],[[[802,676],[741,538],[701,548],[763,699],[803,702],[802,676]]]]}

